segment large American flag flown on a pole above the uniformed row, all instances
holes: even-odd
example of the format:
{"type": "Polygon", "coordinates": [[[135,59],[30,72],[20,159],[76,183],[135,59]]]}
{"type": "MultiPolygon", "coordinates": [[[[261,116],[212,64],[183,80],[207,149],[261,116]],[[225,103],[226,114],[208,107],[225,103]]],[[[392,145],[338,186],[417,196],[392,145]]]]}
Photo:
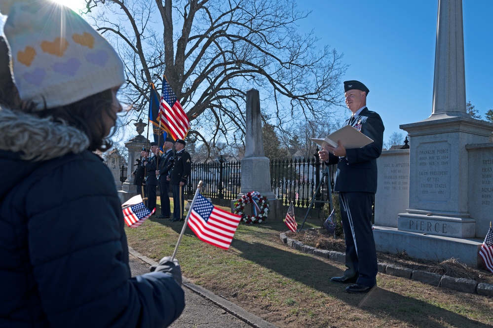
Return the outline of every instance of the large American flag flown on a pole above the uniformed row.
{"type": "Polygon", "coordinates": [[[163,79],[159,112],[161,113],[161,124],[173,140],[185,139],[190,129],[190,120],[166,78],[163,79]]]}

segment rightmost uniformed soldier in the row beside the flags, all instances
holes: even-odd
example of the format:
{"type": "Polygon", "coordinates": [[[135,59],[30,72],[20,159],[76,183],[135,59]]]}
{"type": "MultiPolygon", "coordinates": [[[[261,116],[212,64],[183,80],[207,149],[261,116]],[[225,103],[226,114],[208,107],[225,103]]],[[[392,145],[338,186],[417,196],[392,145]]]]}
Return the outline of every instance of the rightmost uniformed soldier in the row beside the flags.
{"type": "Polygon", "coordinates": [[[191,157],[185,150],[185,145],[186,143],[184,140],[176,140],[176,155],[170,173],[171,189],[173,190],[172,222],[183,221],[183,210],[185,205],[184,191],[191,172],[191,157]]]}

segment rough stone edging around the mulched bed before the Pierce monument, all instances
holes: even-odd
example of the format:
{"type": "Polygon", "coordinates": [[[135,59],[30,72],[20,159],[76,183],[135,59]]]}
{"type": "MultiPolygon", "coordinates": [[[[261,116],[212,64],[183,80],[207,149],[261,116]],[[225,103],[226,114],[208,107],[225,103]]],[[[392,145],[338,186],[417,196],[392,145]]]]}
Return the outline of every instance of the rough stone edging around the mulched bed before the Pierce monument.
{"type": "MultiPolygon", "coordinates": [[[[298,240],[288,238],[285,232],[281,233],[280,238],[284,244],[303,253],[321,256],[323,258],[328,258],[341,263],[345,262],[345,253],[319,250],[315,247],[304,245],[298,240]]],[[[445,275],[442,276],[438,273],[413,270],[386,263],[379,263],[379,272],[395,277],[402,277],[420,281],[422,283],[433,285],[436,287],[448,288],[458,292],[478,293],[479,295],[493,297],[493,285],[478,283],[477,281],[472,279],[452,278],[445,275]]]]}

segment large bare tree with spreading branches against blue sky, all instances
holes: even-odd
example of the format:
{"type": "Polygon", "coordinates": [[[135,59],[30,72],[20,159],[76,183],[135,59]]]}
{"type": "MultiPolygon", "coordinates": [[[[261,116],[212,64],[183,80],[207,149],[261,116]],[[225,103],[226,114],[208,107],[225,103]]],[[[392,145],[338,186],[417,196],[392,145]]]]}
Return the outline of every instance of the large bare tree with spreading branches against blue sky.
{"type": "Polygon", "coordinates": [[[335,49],[297,32],[294,0],[86,0],[85,11],[125,63],[128,121],[147,119],[150,82],[165,75],[192,122],[190,135],[241,144],[246,91],[262,95],[278,127],[327,116],[346,66],[335,49]],[[135,115],[136,113],[136,115],[135,115]]]}

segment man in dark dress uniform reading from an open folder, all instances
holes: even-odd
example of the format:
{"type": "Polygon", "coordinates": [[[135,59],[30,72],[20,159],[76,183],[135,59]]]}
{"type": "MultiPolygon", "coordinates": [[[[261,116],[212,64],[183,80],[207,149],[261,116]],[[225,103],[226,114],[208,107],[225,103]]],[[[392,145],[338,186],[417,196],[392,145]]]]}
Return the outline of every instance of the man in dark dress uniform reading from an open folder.
{"type": "Polygon", "coordinates": [[[337,164],[334,190],[339,191],[342,228],[346,243],[346,270],[337,283],[353,283],[347,292],[369,292],[377,284],[377,251],[372,230],[372,206],[377,192],[377,158],[383,146],[383,122],[380,115],[366,107],[370,90],[361,82],[344,82],[344,96],[351,125],[373,142],[367,146],[346,149],[327,146],[319,151],[327,164],[337,164]]]}

